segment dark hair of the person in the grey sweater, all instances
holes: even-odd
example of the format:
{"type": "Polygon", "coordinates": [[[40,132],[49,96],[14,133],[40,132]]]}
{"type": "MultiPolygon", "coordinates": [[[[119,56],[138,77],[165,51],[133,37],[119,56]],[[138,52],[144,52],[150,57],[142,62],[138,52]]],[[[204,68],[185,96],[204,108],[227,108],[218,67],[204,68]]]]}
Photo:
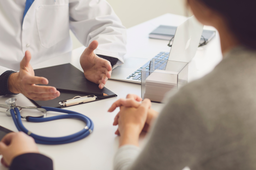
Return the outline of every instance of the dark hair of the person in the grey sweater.
{"type": "Polygon", "coordinates": [[[239,42],[256,50],[256,0],[200,0],[225,17],[239,42]]]}

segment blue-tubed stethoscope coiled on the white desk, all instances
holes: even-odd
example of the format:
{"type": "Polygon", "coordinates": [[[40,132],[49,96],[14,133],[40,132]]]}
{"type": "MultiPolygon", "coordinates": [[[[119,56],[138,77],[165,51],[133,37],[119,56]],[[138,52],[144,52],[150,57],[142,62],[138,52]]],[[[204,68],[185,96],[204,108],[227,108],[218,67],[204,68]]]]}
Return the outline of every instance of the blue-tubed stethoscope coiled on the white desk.
{"type": "Polygon", "coordinates": [[[12,119],[14,121],[14,124],[16,125],[18,131],[23,131],[27,135],[33,137],[35,139],[36,143],[40,144],[46,144],[46,145],[57,145],[57,144],[65,144],[65,143],[71,143],[76,142],[78,140],[81,140],[88,136],[90,133],[92,133],[92,130],[94,128],[93,122],[91,119],[89,119],[87,116],[73,112],[70,110],[64,110],[60,108],[49,108],[49,107],[20,107],[16,106],[15,104],[16,98],[10,98],[6,100],[6,104],[0,104],[1,108],[9,108],[7,111],[0,111],[2,113],[6,113],[8,116],[12,116],[12,119]],[[41,111],[44,113],[43,116],[39,117],[32,117],[32,116],[22,116],[20,114],[21,109],[36,109],[38,111],[41,111]],[[59,112],[59,113],[67,113],[63,115],[53,116],[53,117],[46,117],[47,111],[53,111],[53,112],[59,112]],[[76,118],[83,120],[83,122],[86,124],[83,130],[69,136],[64,137],[44,137],[44,136],[38,136],[29,130],[27,130],[24,125],[22,124],[21,119],[26,119],[28,122],[48,122],[52,120],[58,120],[58,119],[69,119],[69,118],[76,118]]]}

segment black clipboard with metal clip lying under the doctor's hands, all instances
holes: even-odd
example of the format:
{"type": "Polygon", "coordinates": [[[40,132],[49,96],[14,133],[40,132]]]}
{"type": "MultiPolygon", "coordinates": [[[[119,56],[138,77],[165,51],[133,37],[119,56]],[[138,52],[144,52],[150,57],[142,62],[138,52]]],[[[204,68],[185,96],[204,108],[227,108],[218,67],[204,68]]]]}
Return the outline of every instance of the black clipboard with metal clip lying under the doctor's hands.
{"type": "Polygon", "coordinates": [[[54,86],[58,91],[60,91],[60,96],[53,100],[34,101],[30,99],[37,107],[46,106],[53,108],[65,108],[68,106],[62,106],[59,102],[75,98],[76,96],[95,95],[95,101],[117,96],[106,87],[100,89],[99,85],[86,79],[83,72],[70,63],[35,69],[34,71],[35,76],[45,77],[49,81],[48,86],[54,86]],[[107,94],[107,96],[103,96],[104,93],[107,94]]]}

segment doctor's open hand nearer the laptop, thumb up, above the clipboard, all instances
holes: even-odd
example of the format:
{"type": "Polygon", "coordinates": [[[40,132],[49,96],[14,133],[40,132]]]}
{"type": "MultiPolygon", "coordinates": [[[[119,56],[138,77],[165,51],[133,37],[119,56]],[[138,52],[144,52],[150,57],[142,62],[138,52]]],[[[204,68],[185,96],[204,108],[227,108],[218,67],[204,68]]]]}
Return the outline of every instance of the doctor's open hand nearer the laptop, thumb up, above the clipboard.
{"type": "Polygon", "coordinates": [[[80,57],[80,64],[86,79],[99,84],[102,89],[107,83],[107,79],[111,77],[112,67],[109,61],[98,57],[94,50],[98,47],[98,41],[94,40],[83,51],[80,57]]]}

